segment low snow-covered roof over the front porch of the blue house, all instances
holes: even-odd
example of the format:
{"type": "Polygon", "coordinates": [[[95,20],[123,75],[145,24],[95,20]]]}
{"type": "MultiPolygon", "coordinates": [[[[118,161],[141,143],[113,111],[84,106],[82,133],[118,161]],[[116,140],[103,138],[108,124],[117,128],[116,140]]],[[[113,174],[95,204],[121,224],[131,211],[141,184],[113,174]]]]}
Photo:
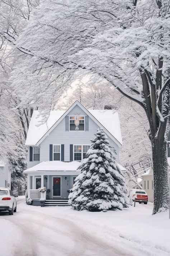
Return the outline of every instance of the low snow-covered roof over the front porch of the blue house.
{"type": "Polygon", "coordinates": [[[76,171],[80,162],[62,162],[62,161],[44,161],[38,163],[25,171],[24,173],[36,172],[36,171],[76,171]]]}

